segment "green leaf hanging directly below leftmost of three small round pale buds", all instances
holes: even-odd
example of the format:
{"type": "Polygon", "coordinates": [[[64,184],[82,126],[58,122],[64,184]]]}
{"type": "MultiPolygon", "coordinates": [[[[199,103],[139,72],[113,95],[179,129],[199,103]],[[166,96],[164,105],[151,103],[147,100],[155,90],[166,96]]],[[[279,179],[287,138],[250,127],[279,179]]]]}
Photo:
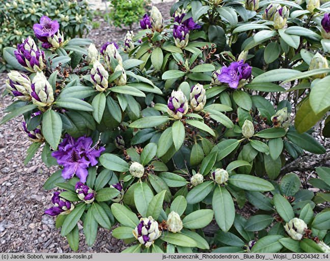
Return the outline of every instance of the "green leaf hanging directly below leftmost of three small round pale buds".
{"type": "Polygon", "coordinates": [[[139,211],[142,216],[147,215],[148,205],[153,197],[153,192],[146,183],[137,183],[134,188],[134,203],[137,211],[139,211]]]}

